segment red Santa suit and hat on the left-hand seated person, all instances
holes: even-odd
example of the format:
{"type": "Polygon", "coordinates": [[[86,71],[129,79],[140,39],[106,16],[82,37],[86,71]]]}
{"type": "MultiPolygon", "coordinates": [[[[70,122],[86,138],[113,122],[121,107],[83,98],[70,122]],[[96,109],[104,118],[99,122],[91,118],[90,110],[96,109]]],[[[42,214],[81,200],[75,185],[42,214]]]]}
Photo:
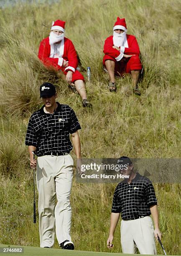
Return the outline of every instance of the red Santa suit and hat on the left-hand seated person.
{"type": "MultiPolygon", "coordinates": [[[[51,27],[51,29],[61,29],[60,26],[51,27]]],[[[38,58],[43,62],[46,67],[54,67],[56,70],[62,70],[64,74],[66,74],[69,70],[73,72],[72,74],[72,82],[74,83],[76,80],[84,80],[83,75],[76,70],[78,66],[78,60],[74,45],[71,40],[64,37],[60,42],[59,48],[59,57],[54,57],[54,44],[50,44],[49,37],[44,38],[39,47],[38,58]],[[63,67],[63,61],[69,61],[68,67],[63,67]]]]}

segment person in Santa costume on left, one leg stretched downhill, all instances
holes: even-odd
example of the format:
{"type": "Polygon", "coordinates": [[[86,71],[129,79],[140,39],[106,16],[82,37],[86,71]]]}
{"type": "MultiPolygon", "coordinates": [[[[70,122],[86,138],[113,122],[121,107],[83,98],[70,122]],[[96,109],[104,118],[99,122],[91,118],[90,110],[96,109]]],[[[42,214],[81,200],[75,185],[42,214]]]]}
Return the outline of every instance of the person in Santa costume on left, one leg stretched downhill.
{"type": "Polygon", "coordinates": [[[77,54],[72,41],[64,37],[65,21],[53,21],[50,35],[44,38],[39,47],[38,58],[46,67],[54,67],[62,71],[66,82],[74,85],[82,97],[83,107],[91,106],[87,94],[83,75],[76,70],[78,66],[77,54]]]}

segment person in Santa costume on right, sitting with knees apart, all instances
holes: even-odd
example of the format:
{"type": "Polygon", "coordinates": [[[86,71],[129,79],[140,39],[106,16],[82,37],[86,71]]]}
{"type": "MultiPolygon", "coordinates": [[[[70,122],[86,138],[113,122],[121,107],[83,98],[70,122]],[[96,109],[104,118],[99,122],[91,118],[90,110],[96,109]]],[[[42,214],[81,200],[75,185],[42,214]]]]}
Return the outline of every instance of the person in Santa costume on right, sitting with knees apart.
{"type": "Polygon", "coordinates": [[[135,36],[127,35],[125,18],[117,21],[113,27],[113,36],[109,36],[104,44],[103,65],[110,76],[108,85],[111,92],[116,91],[115,75],[122,76],[130,73],[132,76],[133,92],[140,95],[138,76],[142,69],[139,58],[140,49],[135,36]]]}

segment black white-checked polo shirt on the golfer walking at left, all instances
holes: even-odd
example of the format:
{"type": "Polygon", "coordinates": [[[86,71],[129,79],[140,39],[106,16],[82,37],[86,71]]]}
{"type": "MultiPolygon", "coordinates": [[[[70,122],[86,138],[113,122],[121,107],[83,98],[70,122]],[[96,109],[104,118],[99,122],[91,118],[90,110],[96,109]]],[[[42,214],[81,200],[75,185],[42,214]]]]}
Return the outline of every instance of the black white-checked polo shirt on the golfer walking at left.
{"type": "Polygon", "coordinates": [[[35,146],[37,156],[69,153],[73,148],[69,134],[81,129],[74,110],[56,103],[58,107],[53,114],[45,113],[43,106],[29,120],[25,145],[35,146]]]}

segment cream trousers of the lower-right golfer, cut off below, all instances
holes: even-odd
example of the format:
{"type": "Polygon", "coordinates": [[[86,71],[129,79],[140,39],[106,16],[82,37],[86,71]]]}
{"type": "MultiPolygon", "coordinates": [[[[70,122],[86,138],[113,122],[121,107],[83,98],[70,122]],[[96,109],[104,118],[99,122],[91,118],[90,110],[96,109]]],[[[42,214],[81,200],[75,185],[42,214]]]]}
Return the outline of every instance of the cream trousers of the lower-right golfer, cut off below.
{"type": "Polygon", "coordinates": [[[122,253],[156,254],[153,222],[150,216],[121,221],[122,253]]]}

